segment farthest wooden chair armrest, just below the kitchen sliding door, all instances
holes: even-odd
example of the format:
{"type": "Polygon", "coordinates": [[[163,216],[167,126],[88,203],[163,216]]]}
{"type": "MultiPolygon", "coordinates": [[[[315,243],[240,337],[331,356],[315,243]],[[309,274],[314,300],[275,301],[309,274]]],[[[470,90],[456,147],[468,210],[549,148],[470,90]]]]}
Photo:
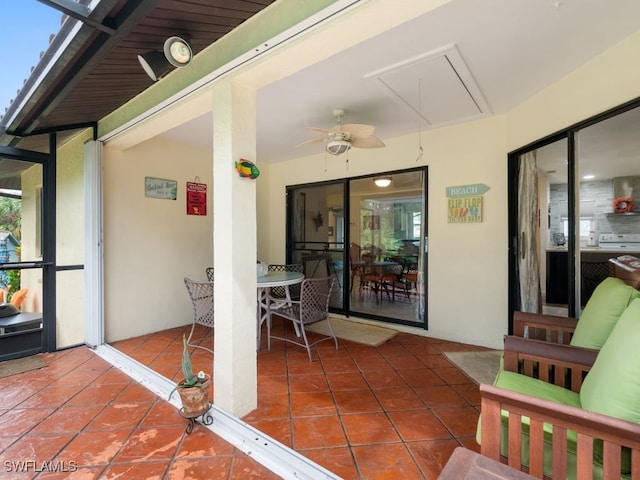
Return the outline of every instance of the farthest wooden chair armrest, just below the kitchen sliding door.
{"type": "Polygon", "coordinates": [[[517,337],[568,345],[577,324],[578,319],[573,317],[513,312],[513,334],[517,337]]]}

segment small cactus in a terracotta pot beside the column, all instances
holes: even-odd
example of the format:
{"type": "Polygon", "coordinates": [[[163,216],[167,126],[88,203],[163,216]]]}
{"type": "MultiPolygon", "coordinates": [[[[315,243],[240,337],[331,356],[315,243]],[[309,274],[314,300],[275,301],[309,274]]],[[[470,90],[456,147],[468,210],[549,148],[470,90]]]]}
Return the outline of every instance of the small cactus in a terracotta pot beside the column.
{"type": "Polygon", "coordinates": [[[169,398],[177,390],[182,400],[182,409],[180,414],[186,418],[198,417],[209,410],[211,403],[209,402],[209,375],[200,371],[197,375],[193,374],[191,365],[191,355],[189,354],[189,346],[187,338],[182,336],[182,373],[184,379],[176,385],[169,394],[169,398]]]}

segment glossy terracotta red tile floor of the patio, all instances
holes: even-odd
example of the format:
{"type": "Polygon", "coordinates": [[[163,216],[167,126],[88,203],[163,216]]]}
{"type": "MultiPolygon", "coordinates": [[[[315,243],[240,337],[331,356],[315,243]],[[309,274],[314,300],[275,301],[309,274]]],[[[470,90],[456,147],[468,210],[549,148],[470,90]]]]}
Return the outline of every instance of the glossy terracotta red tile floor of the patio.
{"type": "MultiPolygon", "coordinates": [[[[185,331],[113,346],[179,380],[185,331]]],[[[442,352],[481,347],[400,333],[379,347],[323,342],[310,363],[303,348],[265,344],[243,420],[335,474],[435,479],[457,446],[479,451],[478,386],[442,352]]],[[[41,356],[47,367],[0,379],[0,479],[279,478],[201,425],[186,434],[175,407],[88,348],[41,356]]],[[[202,349],[192,360],[211,369],[202,349]]]]}

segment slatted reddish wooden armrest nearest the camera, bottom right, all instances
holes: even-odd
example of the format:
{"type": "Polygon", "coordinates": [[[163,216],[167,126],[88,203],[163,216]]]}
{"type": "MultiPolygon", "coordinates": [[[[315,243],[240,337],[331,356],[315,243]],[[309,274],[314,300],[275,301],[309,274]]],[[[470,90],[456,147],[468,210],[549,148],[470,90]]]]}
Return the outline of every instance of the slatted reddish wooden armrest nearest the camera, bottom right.
{"type": "Polygon", "coordinates": [[[549,400],[523,395],[493,385],[480,385],[481,453],[500,461],[501,442],[508,445],[506,463],[522,469],[522,417],[529,417],[529,474],[543,477],[543,445],[552,442],[552,478],[567,478],[567,430],[577,433],[575,478],[592,478],[593,440],[603,441],[602,478],[620,478],[621,450],[631,450],[633,478],[640,472],[640,425],[617,418],[562,405],[549,400]],[[502,411],[509,412],[507,438],[502,439],[502,411]],[[553,435],[545,435],[544,424],[553,427],[553,435]]]}

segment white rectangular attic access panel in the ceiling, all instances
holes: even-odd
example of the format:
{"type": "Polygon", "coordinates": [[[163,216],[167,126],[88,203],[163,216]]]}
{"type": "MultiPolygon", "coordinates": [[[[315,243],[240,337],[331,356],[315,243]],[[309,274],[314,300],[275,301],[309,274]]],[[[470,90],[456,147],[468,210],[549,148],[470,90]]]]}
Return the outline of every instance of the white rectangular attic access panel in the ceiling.
{"type": "Polygon", "coordinates": [[[455,46],[410,58],[366,75],[431,126],[490,114],[455,46]]]}

